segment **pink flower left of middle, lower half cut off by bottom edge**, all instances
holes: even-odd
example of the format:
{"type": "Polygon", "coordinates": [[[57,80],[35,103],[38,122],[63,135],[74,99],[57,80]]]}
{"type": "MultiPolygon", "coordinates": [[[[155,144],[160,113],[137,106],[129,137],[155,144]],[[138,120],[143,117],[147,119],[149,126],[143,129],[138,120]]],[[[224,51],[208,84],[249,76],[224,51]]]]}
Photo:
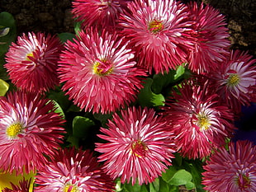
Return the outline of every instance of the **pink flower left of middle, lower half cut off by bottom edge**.
{"type": "Polygon", "coordinates": [[[113,191],[114,182],[98,166],[92,152],[64,148],[38,172],[36,191],[113,191]]]}

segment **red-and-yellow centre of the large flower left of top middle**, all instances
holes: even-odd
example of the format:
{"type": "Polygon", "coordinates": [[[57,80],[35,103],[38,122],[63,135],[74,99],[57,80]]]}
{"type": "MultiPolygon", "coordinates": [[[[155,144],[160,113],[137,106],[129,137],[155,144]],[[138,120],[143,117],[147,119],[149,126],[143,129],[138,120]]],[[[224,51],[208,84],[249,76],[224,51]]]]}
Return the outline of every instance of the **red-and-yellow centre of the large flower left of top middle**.
{"type": "Polygon", "coordinates": [[[106,76],[110,74],[113,70],[111,62],[103,59],[103,60],[98,60],[96,63],[93,65],[93,73],[100,75],[100,76],[106,76]]]}

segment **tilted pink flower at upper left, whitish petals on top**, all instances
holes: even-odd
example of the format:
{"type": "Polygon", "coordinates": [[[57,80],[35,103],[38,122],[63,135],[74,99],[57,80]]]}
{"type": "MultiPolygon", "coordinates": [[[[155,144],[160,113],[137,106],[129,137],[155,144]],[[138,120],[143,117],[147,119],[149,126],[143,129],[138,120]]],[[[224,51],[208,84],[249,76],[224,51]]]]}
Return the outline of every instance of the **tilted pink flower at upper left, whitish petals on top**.
{"type": "Polygon", "coordinates": [[[12,43],[6,56],[10,79],[25,91],[44,92],[59,83],[57,68],[60,49],[57,36],[43,33],[23,34],[12,43]]]}

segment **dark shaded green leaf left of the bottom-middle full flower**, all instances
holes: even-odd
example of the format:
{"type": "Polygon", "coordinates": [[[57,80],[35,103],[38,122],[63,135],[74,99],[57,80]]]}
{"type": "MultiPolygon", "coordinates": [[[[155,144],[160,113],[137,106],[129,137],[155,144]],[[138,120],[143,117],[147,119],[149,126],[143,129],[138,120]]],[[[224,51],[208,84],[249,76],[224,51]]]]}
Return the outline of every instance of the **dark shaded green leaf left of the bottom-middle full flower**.
{"type": "Polygon", "coordinates": [[[91,119],[76,116],[73,119],[73,136],[76,138],[87,138],[89,129],[95,125],[91,119]]]}

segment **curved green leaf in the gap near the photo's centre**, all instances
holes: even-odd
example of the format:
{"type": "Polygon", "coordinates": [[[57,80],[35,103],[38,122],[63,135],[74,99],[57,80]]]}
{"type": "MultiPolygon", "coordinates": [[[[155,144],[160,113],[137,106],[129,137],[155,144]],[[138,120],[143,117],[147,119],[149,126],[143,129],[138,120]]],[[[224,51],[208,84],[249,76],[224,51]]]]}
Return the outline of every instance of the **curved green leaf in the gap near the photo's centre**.
{"type": "Polygon", "coordinates": [[[147,78],[145,80],[144,88],[138,94],[138,103],[145,106],[160,106],[164,105],[164,96],[162,94],[155,94],[151,91],[153,79],[147,78]]]}

